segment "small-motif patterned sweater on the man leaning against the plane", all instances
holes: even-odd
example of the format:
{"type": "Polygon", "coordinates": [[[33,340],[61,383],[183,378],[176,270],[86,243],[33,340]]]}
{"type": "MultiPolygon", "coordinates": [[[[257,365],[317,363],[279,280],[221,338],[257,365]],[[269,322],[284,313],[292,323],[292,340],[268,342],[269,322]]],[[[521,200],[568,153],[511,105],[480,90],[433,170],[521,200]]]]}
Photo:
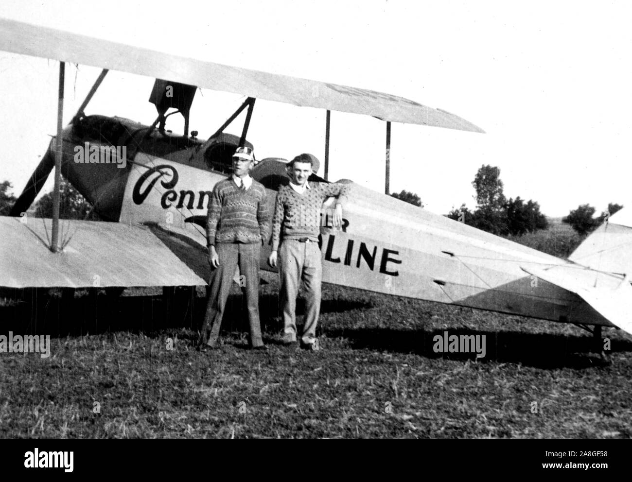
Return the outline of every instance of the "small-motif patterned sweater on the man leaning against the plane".
{"type": "Polygon", "coordinates": [[[310,189],[299,194],[290,186],[281,186],[272,219],[272,250],[279,249],[281,239],[318,241],[322,203],[331,196],[344,203],[348,187],[348,184],[310,183],[310,189]]]}

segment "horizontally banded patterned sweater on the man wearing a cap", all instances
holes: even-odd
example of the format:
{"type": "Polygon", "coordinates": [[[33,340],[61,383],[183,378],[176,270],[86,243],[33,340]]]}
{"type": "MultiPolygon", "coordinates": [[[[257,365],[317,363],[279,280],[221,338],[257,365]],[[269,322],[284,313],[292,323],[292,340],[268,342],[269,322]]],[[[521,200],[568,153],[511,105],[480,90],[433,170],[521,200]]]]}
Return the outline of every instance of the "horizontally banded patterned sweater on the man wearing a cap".
{"type": "Polygon", "coordinates": [[[253,179],[242,191],[232,178],[215,184],[206,219],[206,239],[215,243],[265,243],[270,235],[270,210],[263,184],[253,179]]]}

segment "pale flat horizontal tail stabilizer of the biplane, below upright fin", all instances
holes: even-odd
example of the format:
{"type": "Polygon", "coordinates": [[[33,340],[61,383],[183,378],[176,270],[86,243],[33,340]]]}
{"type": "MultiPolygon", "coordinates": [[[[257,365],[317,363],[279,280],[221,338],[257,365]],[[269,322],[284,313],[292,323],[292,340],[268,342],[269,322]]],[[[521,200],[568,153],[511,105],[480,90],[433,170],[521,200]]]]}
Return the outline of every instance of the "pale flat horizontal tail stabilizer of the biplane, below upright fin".
{"type": "Polygon", "coordinates": [[[618,277],[580,266],[521,268],[530,275],[574,292],[613,325],[632,334],[632,286],[627,276],[618,277]]]}

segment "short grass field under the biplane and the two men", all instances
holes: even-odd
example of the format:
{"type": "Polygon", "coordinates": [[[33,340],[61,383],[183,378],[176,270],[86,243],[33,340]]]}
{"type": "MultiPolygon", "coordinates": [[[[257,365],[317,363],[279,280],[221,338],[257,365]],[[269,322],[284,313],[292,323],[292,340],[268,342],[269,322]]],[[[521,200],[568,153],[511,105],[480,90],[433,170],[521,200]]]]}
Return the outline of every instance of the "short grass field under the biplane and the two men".
{"type": "Polygon", "coordinates": [[[63,336],[50,358],[0,354],[0,435],[632,437],[632,340],[621,332],[605,330],[603,365],[571,325],[324,285],[322,351],[289,351],[276,279],[264,277],[263,353],[245,349],[238,294],[210,354],[194,349],[203,298],[194,310],[155,296],[5,303],[3,333],[63,336]],[[445,330],[486,335],[485,358],[436,354],[445,330]]]}

